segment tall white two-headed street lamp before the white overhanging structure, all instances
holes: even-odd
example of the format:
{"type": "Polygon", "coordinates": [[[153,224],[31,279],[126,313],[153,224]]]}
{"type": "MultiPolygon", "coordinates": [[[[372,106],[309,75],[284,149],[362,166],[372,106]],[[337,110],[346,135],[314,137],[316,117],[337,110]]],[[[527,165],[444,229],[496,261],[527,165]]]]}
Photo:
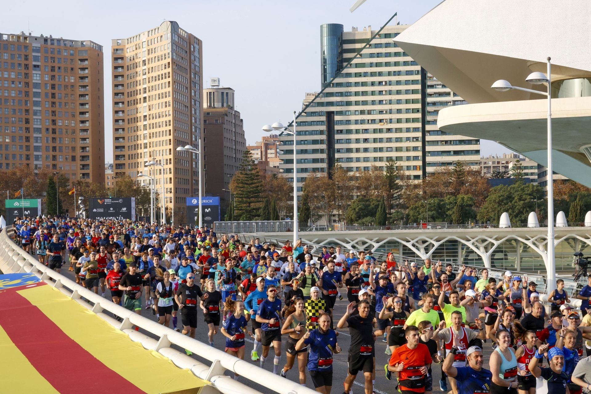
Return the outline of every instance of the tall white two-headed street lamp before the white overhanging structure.
{"type": "Polygon", "coordinates": [[[540,92],[538,90],[525,89],[524,87],[512,86],[508,81],[501,79],[492,84],[492,89],[499,92],[506,92],[510,89],[523,90],[524,92],[536,93],[548,97],[548,246],[546,259],[548,262],[548,284],[547,292],[556,289],[556,261],[554,260],[554,185],[553,185],[553,171],[552,171],[552,95],[551,95],[551,73],[550,73],[550,57],[547,59],[547,74],[536,71],[531,73],[525,80],[531,84],[547,83],[547,92],[540,92]]]}

